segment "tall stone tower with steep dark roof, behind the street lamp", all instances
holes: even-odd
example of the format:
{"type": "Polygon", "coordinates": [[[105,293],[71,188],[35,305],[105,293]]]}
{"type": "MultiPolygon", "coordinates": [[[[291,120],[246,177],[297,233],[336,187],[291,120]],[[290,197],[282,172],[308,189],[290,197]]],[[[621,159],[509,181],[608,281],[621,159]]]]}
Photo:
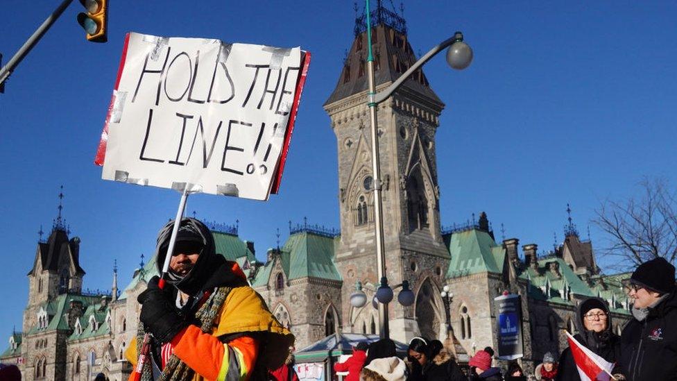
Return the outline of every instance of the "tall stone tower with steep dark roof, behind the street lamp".
{"type": "MultiPolygon", "coordinates": [[[[407,41],[404,19],[380,5],[372,10],[372,44],[377,91],[399,78],[416,61],[407,41]]],[[[368,41],[364,17],[356,20],[354,42],[345,58],[339,81],[324,108],[332,121],[339,150],[339,208],[341,241],[336,266],[343,277],[345,332],[378,332],[378,312],[367,303],[350,307],[350,294],[362,282],[370,298],[376,287],[377,266],[367,106],[366,58],[368,41]]],[[[444,316],[429,295],[440,289],[449,252],[440,235],[439,187],[435,133],[444,104],[425,74],[415,72],[393,96],[378,105],[382,166],[386,274],[391,287],[409,280],[417,303],[389,305],[393,339],[418,335],[420,325],[435,325],[430,316],[444,316]],[[432,286],[435,287],[432,287],[432,286]],[[426,305],[422,305],[424,303],[426,305]],[[436,312],[436,313],[430,313],[436,312]]],[[[438,331],[440,332],[440,331],[438,331]]]]}

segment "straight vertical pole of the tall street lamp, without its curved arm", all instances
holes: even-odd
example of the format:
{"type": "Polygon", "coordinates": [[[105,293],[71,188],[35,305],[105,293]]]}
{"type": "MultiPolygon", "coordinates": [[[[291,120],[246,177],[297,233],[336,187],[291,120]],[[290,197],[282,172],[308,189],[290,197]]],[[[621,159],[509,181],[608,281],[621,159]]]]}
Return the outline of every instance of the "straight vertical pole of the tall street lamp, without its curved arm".
{"type": "MultiPolygon", "coordinates": [[[[377,120],[377,103],[374,102],[376,95],[376,81],[374,78],[374,56],[371,43],[371,19],[369,0],[366,0],[365,11],[367,12],[367,40],[369,42],[369,56],[367,58],[367,72],[369,81],[369,119],[371,122],[371,156],[372,171],[374,176],[374,224],[376,230],[376,267],[379,282],[386,278],[386,253],[384,248],[383,233],[383,205],[381,201],[381,163],[379,160],[379,128],[377,120]]],[[[388,305],[379,305],[379,335],[382,339],[388,339],[388,305]]]]}

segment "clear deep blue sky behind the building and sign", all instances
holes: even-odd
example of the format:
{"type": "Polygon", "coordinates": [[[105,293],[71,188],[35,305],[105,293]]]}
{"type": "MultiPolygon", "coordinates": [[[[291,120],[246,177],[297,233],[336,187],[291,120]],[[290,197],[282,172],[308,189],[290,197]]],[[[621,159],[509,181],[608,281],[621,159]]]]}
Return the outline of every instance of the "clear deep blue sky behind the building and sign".
{"type": "MultiPolygon", "coordinates": [[[[4,62],[58,2],[3,2],[4,62]]],[[[109,42],[94,44],[74,1],[17,68],[0,95],[1,340],[21,326],[37,231],[51,229],[60,185],[92,289],[110,287],[114,259],[125,285],[175,214],[175,192],[101,180],[92,164],[128,31],[311,51],[280,195],[265,203],[198,195],[188,210],[239,219],[259,258],[275,246],[276,228],[284,242],[289,220],[339,226],[336,140],[322,104],[352,43],[352,1],[241,4],[114,1],[109,42]]],[[[484,210],[495,230],[504,223],[506,236],[550,248],[554,232],[563,237],[567,203],[586,237],[605,198],[630,196],[643,176],[674,186],[676,15],[668,1],[406,2],[414,51],[456,30],[474,49],[465,71],[451,71],[443,57],[425,67],[447,105],[436,137],[443,224],[484,210]]],[[[602,244],[594,226],[592,239],[602,244]]]]}

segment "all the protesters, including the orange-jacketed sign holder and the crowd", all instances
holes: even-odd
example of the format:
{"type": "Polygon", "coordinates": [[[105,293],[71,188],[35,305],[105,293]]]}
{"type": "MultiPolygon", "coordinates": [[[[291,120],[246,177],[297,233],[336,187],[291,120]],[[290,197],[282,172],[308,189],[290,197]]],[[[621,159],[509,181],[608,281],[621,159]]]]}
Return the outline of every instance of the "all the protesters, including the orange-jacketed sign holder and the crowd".
{"type": "MultiPolygon", "coordinates": [[[[157,238],[158,271],[168,253],[173,221],[157,238]]],[[[272,316],[248,285],[237,263],[215,251],[209,229],[182,219],[162,281],[151,278],[139,295],[137,338],[126,357],[135,367],[130,380],[298,380],[293,371],[293,335],[272,316]],[[166,287],[163,282],[166,281],[166,287]]],[[[663,258],[644,262],[626,284],[633,318],[622,335],[612,331],[610,310],[600,298],[582,300],[574,339],[613,365],[617,380],[677,380],[677,297],[675,268],[663,258]]],[[[461,369],[451,348],[415,337],[404,359],[395,343],[362,343],[334,371],[346,381],[581,380],[572,349],[546,353],[527,375],[518,362],[503,371],[495,353],[478,350],[461,369]]],[[[11,371],[2,369],[2,371],[11,371]]]]}

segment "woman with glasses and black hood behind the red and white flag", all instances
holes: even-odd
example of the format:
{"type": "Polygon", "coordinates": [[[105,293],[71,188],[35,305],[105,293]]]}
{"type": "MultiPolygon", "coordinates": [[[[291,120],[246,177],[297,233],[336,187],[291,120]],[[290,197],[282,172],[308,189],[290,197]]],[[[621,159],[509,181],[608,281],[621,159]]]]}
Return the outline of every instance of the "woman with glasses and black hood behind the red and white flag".
{"type": "MultiPolygon", "coordinates": [[[[576,341],[592,350],[606,361],[615,363],[621,356],[621,340],[612,330],[609,307],[601,298],[583,300],[576,308],[574,319],[576,341]]],[[[566,348],[560,356],[557,370],[558,381],[580,381],[571,348],[566,348]]]]}

